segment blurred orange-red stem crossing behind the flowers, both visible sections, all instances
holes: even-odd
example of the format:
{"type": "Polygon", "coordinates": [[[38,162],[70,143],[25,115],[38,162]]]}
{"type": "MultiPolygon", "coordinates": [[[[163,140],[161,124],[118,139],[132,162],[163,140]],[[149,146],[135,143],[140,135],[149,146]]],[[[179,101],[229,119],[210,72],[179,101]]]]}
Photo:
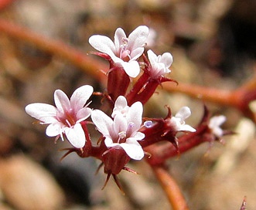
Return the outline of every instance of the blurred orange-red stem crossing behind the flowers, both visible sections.
{"type": "MultiPolygon", "coordinates": [[[[60,56],[74,66],[84,70],[85,73],[93,76],[99,82],[107,83],[107,77],[101,72],[101,70],[105,71],[108,69],[107,65],[101,62],[101,60],[94,59],[92,56],[87,56],[86,53],[68,46],[67,43],[47,39],[4,19],[0,19],[0,32],[23,42],[33,44],[38,49],[60,56]]],[[[244,113],[244,116],[256,123],[256,113],[249,107],[249,103],[252,100],[256,100],[256,74],[251,80],[245,82],[243,86],[237,88],[237,90],[218,90],[185,83],[179,83],[178,86],[174,83],[162,83],[162,86],[164,90],[169,92],[184,93],[189,97],[200,100],[236,107],[244,113]]]]}

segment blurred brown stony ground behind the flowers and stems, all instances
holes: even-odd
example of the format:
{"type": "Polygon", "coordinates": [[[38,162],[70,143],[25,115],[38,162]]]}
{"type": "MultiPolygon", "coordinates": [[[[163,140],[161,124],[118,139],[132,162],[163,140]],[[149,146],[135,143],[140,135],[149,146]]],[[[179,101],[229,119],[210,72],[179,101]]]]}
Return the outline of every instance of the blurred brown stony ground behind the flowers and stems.
{"type": "MultiPolygon", "coordinates": [[[[113,39],[118,27],[129,34],[147,25],[148,48],[172,53],[169,77],[180,83],[232,90],[255,73],[254,0],[0,0],[0,9],[2,20],[84,54],[93,50],[88,38],[94,34],[113,39]]],[[[0,32],[0,209],[169,209],[146,161],[129,164],[139,175],[119,175],[125,196],[113,180],[101,191],[105,174],[95,175],[100,162],[76,154],[60,161],[65,153],[60,150],[70,145],[54,144],[45,127],[33,124],[24,111],[29,103],[53,104],[56,89],[70,96],[84,84],[104,91],[94,77],[60,56],[0,32]]],[[[145,116],[166,117],[166,104],[173,113],[189,106],[193,127],[203,115],[202,101],[159,89],[146,104],[145,116]]],[[[169,171],[190,209],[239,209],[244,196],[247,208],[254,209],[255,126],[233,108],[206,104],[213,113],[225,114],[224,128],[237,135],[225,137],[225,145],[202,144],[170,159],[169,171]]]]}

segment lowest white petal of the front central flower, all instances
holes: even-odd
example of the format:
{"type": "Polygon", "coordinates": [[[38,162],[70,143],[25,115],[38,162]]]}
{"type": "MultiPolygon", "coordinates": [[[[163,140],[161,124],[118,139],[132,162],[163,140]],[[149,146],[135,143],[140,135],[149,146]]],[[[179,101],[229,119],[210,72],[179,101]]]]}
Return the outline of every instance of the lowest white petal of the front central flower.
{"type": "Polygon", "coordinates": [[[130,140],[129,138],[126,140],[126,143],[119,144],[128,154],[131,159],[134,160],[142,160],[144,157],[144,151],[142,146],[138,144],[137,141],[130,140]]]}

